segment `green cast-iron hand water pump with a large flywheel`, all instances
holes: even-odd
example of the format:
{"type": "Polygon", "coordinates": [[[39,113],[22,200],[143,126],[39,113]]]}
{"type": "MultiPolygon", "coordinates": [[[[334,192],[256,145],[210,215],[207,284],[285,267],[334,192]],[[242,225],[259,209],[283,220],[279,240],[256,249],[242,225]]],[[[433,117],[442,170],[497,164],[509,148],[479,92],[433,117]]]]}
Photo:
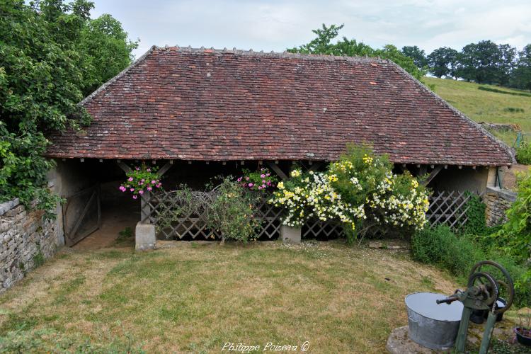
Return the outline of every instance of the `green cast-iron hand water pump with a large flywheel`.
{"type": "Polygon", "coordinates": [[[470,314],[474,310],[486,310],[489,312],[479,354],[488,352],[492,331],[496,324],[496,317],[498,314],[506,312],[510,305],[513,304],[514,294],[513,280],[510,278],[507,270],[496,262],[481,261],[472,267],[466,290],[455,290],[454,295],[437,300],[438,304],[451,304],[454,301],[460,301],[463,304],[461,323],[459,324],[459,331],[457,331],[457,339],[455,341],[455,350],[457,353],[464,353],[464,345],[467,343],[470,314]],[[491,273],[481,271],[481,268],[484,266],[490,266],[493,268],[493,271],[491,273]],[[506,296],[506,305],[497,308],[496,302],[500,298],[501,292],[506,296]]]}

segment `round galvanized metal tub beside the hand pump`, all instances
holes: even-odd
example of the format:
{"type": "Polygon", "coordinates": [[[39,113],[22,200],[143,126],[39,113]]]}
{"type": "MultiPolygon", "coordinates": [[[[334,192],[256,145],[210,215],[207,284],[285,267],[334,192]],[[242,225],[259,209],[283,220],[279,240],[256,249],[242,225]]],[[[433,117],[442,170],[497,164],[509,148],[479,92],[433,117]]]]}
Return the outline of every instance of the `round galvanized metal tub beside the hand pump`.
{"type": "Polygon", "coordinates": [[[415,292],[406,296],[409,338],[426,348],[450,349],[455,344],[463,304],[437,304],[435,300],[447,297],[433,292],[415,292]]]}

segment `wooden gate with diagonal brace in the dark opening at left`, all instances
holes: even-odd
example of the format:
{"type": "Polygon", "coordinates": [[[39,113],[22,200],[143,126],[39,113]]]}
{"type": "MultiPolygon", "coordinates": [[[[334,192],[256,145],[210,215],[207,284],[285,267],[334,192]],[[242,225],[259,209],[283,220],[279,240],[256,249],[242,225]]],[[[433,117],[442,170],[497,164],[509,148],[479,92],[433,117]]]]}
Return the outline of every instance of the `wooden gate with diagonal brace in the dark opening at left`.
{"type": "Polygon", "coordinates": [[[100,185],[86,188],[67,198],[62,206],[63,231],[67,246],[74,246],[101,227],[100,185]]]}

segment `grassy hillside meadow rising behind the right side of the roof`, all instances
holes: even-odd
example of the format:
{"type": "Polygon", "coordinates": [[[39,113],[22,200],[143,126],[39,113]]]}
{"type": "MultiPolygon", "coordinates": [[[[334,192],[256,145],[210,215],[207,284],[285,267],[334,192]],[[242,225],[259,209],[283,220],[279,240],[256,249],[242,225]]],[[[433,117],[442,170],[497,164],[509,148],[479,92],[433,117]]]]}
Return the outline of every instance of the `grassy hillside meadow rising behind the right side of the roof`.
{"type": "MultiPolygon", "coordinates": [[[[478,87],[524,95],[526,91],[431,77],[424,77],[423,81],[428,86],[435,85],[435,93],[476,122],[518,124],[524,132],[531,132],[531,96],[513,96],[479,90],[478,87]]],[[[516,132],[492,132],[509,146],[516,138],[516,132]]]]}

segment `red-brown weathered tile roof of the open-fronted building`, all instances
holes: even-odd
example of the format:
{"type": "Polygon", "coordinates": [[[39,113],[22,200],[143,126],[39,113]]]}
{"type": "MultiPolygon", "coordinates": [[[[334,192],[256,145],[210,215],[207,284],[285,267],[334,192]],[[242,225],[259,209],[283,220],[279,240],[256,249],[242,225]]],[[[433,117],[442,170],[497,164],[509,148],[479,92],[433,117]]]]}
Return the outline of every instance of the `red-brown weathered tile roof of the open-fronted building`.
{"type": "Polygon", "coordinates": [[[383,59],[152,47],[82,105],[47,155],[334,160],[349,142],[404,164],[506,165],[508,147],[383,59]]]}

